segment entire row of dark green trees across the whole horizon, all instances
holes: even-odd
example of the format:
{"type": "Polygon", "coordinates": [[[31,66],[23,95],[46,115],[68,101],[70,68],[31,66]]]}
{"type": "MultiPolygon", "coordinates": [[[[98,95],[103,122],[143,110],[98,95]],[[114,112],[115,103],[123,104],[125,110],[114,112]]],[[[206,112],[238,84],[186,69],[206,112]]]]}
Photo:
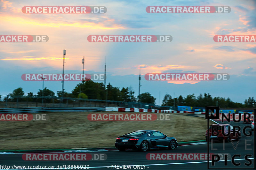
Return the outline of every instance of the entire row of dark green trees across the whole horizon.
{"type": "MultiPolygon", "coordinates": [[[[45,102],[52,102],[51,97],[68,97],[68,98],[82,98],[82,99],[99,99],[99,100],[115,100],[124,102],[143,102],[149,104],[155,104],[156,98],[149,92],[141,93],[139,96],[134,95],[132,87],[114,87],[110,83],[104,86],[104,84],[93,82],[92,80],[82,81],[77,84],[71,92],[57,91],[55,94],[52,90],[39,89],[39,91],[34,94],[33,92],[27,93],[21,87],[14,89],[12,93],[9,93],[3,101],[16,101],[17,96],[19,96],[19,101],[36,101],[36,98],[41,98],[44,96],[45,102]],[[23,99],[27,98],[27,99],[23,99]]],[[[0,95],[1,99],[1,95],[0,95]]],[[[54,102],[60,102],[58,100],[54,102]]],[[[181,95],[176,98],[172,98],[170,94],[166,94],[162,101],[162,106],[192,106],[192,107],[205,107],[205,106],[220,106],[220,107],[256,107],[255,99],[249,97],[244,101],[244,103],[234,102],[229,97],[225,99],[224,97],[212,97],[209,93],[199,94],[189,94],[186,97],[181,95]],[[218,102],[218,103],[217,103],[218,102]]]]}

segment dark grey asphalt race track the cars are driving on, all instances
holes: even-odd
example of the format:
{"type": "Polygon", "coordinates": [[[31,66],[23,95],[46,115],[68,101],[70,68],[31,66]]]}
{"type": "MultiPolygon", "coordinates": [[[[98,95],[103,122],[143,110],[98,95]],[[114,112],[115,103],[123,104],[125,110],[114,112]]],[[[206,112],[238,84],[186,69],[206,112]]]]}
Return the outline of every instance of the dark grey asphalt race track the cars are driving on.
{"type": "MultiPolygon", "coordinates": [[[[220,121],[217,121],[220,122],[220,121]]],[[[210,121],[210,124],[214,124],[210,121]]],[[[244,126],[250,126],[250,124],[243,124],[243,123],[235,123],[231,122],[231,125],[239,125],[241,129],[244,126]]],[[[215,166],[210,166],[211,168],[253,168],[254,162],[253,162],[253,133],[251,137],[245,137],[243,135],[243,130],[241,130],[242,137],[239,141],[237,148],[234,149],[236,146],[237,141],[234,141],[234,147],[232,143],[225,143],[225,150],[223,151],[223,143],[222,142],[214,142],[213,143],[213,149],[218,150],[212,150],[211,151],[211,143],[209,143],[210,146],[210,153],[228,153],[231,156],[234,154],[241,154],[241,157],[236,157],[235,160],[236,163],[241,163],[240,166],[234,166],[230,160],[227,161],[227,166],[224,166],[224,161],[220,161],[216,163],[215,166]],[[245,150],[245,139],[247,140],[247,148],[251,148],[251,150],[245,150]],[[248,141],[251,140],[251,141],[248,141]],[[251,145],[248,145],[251,144],[251,145]],[[244,163],[248,163],[248,161],[244,160],[245,154],[252,154],[252,157],[250,160],[252,160],[252,164],[250,166],[245,166],[244,163]]],[[[76,152],[78,153],[78,152],[76,152]]],[[[207,169],[207,160],[147,160],[146,155],[148,153],[207,153],[207,144],[194,144],[194,145],[185,145],[180,146],[175,150],[150,150],[148,152],[140,152],[140,151],[132,151],[128,150],[126,152],[120,152],[120,151],[106,151],[106,152],[87,152],[87,153],[98,153],[107,154],[107,160],[89,160],[89,161],[25,161],[21,158],[22,154],[0,154],[0,165],[8,165],[8,166],[63,166],[66,165],[89,165],[89,169],[124,169],[124,167],[117,166],[117,168],[111,167],[111,165],[142,165],[140,166],[141,169],[179,169],[179,170],[190,170],[190,169],[207,169]],[[144,166],[145,167],[144,167],[144,166]]],[[[230,159],[230,156],[228,157],[230,159]]],[[[210,162],[211,164],[211,162],[210,162]]],[[[134,166],[135,167],[135,166],[134,166]]],[[[1,167],[0,169],[4,169],[1,167]]],[[[24,169],[24,168],[22,168],[24,169]]],[[[127,167],[125,169],[128,169],[127,167]]],[[[129,169],[135,169],[133,166],[129,169]]],[[[136,166],[136,169],[139,169],[136,166]]]]}

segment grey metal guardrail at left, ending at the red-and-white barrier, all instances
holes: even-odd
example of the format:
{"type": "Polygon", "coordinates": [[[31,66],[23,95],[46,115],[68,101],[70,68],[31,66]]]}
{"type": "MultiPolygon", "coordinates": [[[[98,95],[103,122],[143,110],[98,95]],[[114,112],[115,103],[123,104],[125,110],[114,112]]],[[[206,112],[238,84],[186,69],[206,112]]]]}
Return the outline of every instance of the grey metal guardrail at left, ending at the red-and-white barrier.
{"type": "Polygon", "coordinates": [[[40,113],[40,112],[99,112],[106,111],[105,107],[25,107],[3,108],[1,113],[40,113]]]}

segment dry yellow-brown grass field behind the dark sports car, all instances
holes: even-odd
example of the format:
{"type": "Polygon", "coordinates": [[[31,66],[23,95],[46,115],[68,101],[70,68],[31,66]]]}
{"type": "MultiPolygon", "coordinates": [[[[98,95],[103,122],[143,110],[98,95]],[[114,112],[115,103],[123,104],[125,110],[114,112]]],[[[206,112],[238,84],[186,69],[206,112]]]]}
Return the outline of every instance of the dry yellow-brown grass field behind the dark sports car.
{"type": "Polygon", "coordinates": [[[187,142],[204,140],[207,129],[204,118],[182,114],[170,114],[170,120],[161,121],[89,121],[89,113],[46,113],[46,121],[1,121],[0,150],[115,147],[118,135],[142,129],[187,142]]]}

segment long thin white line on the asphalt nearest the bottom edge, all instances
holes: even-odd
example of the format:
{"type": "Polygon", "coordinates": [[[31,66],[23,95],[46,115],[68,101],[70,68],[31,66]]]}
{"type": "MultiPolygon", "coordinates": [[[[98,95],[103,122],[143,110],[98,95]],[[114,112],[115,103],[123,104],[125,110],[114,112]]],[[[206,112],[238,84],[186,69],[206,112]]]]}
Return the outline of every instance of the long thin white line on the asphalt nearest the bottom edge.
{"type": "MultiPolygon", "coordinates": [[[[253,159],[253,158],[248,158],[253,159]]],[[[228,159],[230,161],[231,159],[228,159]]],[[[234,160],[245,160],[245,159],[234,159],[234,160]]],[[[220,160],[218,162],[223,162],[225,160],[220,160]]],[[[212,162],[212,161],[209,161],[212,162]]],[[[148,164],[148,165],[131,165],[131,166],[160,166],[160,165],[178,165],[178,164],[196,164],[196,163],[207,163],[207,161],[200,162],[179,162],[179,163],[168,163],[168,164],[148,164]]],[[[90,166],[90,168],[110,168],[111,166],[90,166]]],[[[122,167],[120,165],[116,165],[116,167],[122,167]]],[[[24,169],[24,168],[23,168],[24,169]]],[[[27,168],[28,169],[28,168],[27,168]]],[[[47,169],[47,168],[37,168],[37,169],[47,169]]],[[[76,169],[76,168],[51,168],[51,169],[76,169]]],[[[6,170],[6,169],[0,169],[6,170]]],[[[10,169],[10,170],[22,170],[22,169],[10,169]]]]}

